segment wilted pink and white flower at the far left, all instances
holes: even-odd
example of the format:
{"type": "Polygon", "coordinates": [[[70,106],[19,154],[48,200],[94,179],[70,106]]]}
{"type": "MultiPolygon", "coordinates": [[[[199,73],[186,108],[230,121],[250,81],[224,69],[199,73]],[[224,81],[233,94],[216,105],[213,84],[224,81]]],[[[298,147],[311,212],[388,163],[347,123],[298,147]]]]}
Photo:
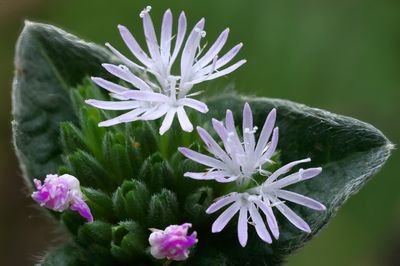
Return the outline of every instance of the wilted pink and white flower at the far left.
{"type": "Polygon", "coordinates": [[[79,180],[72,175],[47,175],[44,183],[34,180],[36,190],[32,198],[41,206],[57,212],[66,209],[79,212],[88,222],[93,216],[83,199],[79,180]]]}

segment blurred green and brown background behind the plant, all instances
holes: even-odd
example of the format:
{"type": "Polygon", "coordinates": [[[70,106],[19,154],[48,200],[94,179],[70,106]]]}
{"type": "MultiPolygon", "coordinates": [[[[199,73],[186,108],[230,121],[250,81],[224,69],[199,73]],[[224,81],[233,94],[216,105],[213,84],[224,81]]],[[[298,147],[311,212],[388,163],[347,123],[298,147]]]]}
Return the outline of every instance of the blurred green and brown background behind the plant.
{"type": "MultiPolygon", "coordinates": [[[[32,265],[60,234],[33,207],[11,144],[14,45],[23,20],[49,22],[98,43],[123,47],[116,25],[142,36],[140,10],[185,10],[206,18],[207,39],[227,26],[248,63],[230,75],[247,94],[287,98],[370,122],[400,142],[398,0],[0,0],[0,264],[32,265]]],[[[157,27],[158,28],[158,27],[157,27]]],[[[341,145],[337,143],[337,145],[341,145]]],[[[351,198],[288,265],[400,265],[400,163],[351,198]]]]}

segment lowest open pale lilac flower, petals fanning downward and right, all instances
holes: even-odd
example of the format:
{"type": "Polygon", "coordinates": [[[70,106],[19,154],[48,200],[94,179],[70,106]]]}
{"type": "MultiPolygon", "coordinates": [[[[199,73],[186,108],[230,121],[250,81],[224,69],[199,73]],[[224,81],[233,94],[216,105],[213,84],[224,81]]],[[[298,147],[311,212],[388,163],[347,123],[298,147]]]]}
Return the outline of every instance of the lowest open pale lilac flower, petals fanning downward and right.
{"type": "Polygon", "coordinates": [[[279,228],[272,211],[272,208],[276,207],[294,226],[302,231],[310,233],[311,229],[307,222],[290,209],[285,201],[282,200],[287,200],[318,211],[324,211],[326,207],[314,199],[284,190],[283,188],[317,176],[321,173],[321,168],[300,169],[296,173],[277,180],[280,175],[289,172],[290,169],[297,164],[309,161],[310,159],[304,159],[286,164],[270,175],[262,185],[249,189],[244,193],[232,192],[218,199],[206,210],[208,214],[214,213],[229,204],[231,205],[215,220],[211,231],[213,233],[221,232],[233,216],[239,212],[237,232],[239,242],[243,247],[247,243],[248,224],[255,227],[258,236],[263,241],[272,243],[272,238],[267,230],[266,223],[274,238],[278,239],[279,228]],[[259,210],[264,214],[266,223],[260,215],[259,210]],[[249,218],[251,218],[251,222],[249,218]]]}

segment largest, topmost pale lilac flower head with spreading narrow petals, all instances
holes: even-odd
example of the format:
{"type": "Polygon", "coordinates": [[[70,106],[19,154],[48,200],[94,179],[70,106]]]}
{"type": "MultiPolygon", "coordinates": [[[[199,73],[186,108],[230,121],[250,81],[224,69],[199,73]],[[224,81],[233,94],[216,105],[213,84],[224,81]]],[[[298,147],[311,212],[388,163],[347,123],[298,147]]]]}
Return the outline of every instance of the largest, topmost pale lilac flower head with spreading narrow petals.
{"type": "Polygon", "coordinates": [[[93,81],[97,85],[108,90],[111,93],[110,95],[119,101],[109,102],[91,99],[86,102],[105,110],[131,110],[119,117],[101,122],[99,126],[112,126],[136,120],[155,120],[165,116],[160,128],[160,134],[164,134],[170,128],[174,116],[177,114],[182,129],[190,132],[193,130],[193,126],[184,107],[202,113],[208,112],[208,108],[203,102],[192,99],[191,97],[196,94],[189,94],[189,92],[195,84],[229,74],[244,64],[246,61],[240,60],[225,67],[239,52],[242,44],[236,45],[222,57],[219,57],[218,54],[228,38],[229,29],[226,29],[210,49],[201,56],[203,49],[200,46],[200,41],[205,37],[204,19],[201,19],[194,26],[186,42],[184,42],[187,30],[185,13],[182,12],[179,16],[177,33],[176,36],[173,36],[173,19],[170,10],[167,10],[164,14],[160,42],[158,42],[149,15],[150,9],[151,7],[147,7],[140,13],[140,17],[143,19],[148,53],[140,47],[126,27],[118,26],[122,39],[136,57],[137,63],[128,59],[111,44],[106,44],[124,65],[103,64],[103,67],[112,75],[130,83],[136,89],[132,90],[103,78],[94,77],[93,81]],[[172,49],[173,39],[175,39],[175,45],[172,49]],[[174,75],[171,73],[171,68],[180,53],[182,54],[180,74],[174,75]],[[137,70],[150,73],[154,76],[156,82],[138,77],[135,74],[137,70]]]}

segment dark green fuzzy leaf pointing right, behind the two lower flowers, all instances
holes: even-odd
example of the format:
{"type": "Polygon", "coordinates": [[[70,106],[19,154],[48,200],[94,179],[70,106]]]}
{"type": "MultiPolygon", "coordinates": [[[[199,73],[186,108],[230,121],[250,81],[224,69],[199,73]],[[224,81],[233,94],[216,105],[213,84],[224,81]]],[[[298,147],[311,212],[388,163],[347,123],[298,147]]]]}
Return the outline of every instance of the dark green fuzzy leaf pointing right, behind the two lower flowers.
{"type": "Polygon", "coordinates": [[[307,167],[323,168],[318,177],[292,186],[293,191],[314,198],[327,207],[327,211],[318,212],[299,205],[291,206],[310,224],[311,234],[294,228],[277,213],[281,236],[272,246],[263,244],[257,237],[249,237],[246,252],[233,244],[225,251],[238,262],[248,261],[246,254],[249,252],[259,255],[252,259],[253,263],[264,261],[274,265],[313,238],[340,206],[381,169],[394,146],[382,132],[367,123],[286,100],[219,97],[208,102],[208,117],[223,119],[226,109],[231,109],[239,123],[245,102],[250,104],[254,125],[259,128],[268,112],[277,109],[278,149],[283,164],[310,157],[312,163],[307,167]]]}

